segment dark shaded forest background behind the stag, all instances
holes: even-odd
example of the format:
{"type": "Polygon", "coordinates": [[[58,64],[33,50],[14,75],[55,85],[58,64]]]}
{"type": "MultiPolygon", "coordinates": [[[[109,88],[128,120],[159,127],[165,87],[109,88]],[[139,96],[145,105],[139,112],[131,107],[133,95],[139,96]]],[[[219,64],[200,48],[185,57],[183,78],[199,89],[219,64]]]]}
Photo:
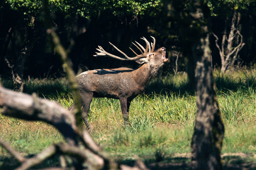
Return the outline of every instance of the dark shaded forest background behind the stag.
{"type": "MultiPolygon", "coordinates": [[[[85,70],[131,67],[133,62],[123,62],[105,57],[93,57],[98,45],[114,52],[108,42],[132,56],[131,42],[141,37],[156,38],[156,48],[167,49],[169,61],[160,74],[185,71],[188,65],[189,32],[186,23],[189,1],[125,0],[125,1],[49,1],[56,32],[65,48],[76,73],[85,70]],[[181,36],[183,35],[183,36],[181,36]],[[176,64],[176,59],[177,64],[176,64]]],[[[58,78],[64,76],[60,58],[46,32],[41,1],[0,2],[0,75],[4,79],[20,81],[30,78],[58,78]]],[[[256,55],[256,2],[255,1],[208,1],[209,29],[212,49],[212,66],[222,71],[253,66],[256,55]],[[233,26],[232,26],[233,24],[233,26]],[[232,31],[233,30],[233,31],[232,31]],[[232,34],[233,33],[233,34],[232,34]],[[233,36],[233,39],[229,37],[233,36]],[[218,46],[216,45],[218,38],[218,46]],[[231,41],[231,42],[230,42],[231,41]],[[230,44],[231,43],[231,44],[230,44]],[[240,46],[239,46],[240,45],[240,46]],[[223,48],[223,49],[222,49],[223,48]],[[220,54],[228,56],[225,65],[220,54]],[[221,50],[221,52],[220,52],[221,50]]]]}

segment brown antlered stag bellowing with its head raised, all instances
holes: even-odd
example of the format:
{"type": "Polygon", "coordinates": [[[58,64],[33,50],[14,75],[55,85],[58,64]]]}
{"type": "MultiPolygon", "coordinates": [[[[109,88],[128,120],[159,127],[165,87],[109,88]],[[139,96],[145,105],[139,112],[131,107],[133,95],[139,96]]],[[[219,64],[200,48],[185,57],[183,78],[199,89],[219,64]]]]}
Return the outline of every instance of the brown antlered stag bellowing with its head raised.
{"type": "MultiPolygon", "coordinates": [[[[168,58],[166,58],[166,48],[162,47],[155,50],[154,37],[152,37],[153,42],[151,43],[148,42],[145,37],[141,39],[146,42],[146,48],[137,41],[135,41],[137,45],[132,42],[141,52],[141,54],[137,54],[130,48],[135,54],[135,57],[127,56],[111,42],[109,42],[109,44],[124,57],[110,54],[101,46],[98,46],[98,49],[96,49],[98,52],[94,55],[95,57],[108,56],[120,60],[135,61],[141,64],[141,67],[138,69],[126,67],[117,69],[97,69],[85,71],[76,76],[82,99],[82,118],[88,130],[90,129],[90,125],[87,116],[93,97],[119,99],[123,121],[126,127],[129,119],[131,101],[144,90],[150,80],[158,73],[160,67],[168,61],[168,58]]],[[[73,112],[75,110],[75,104],[68,109],[73,112]]]]}

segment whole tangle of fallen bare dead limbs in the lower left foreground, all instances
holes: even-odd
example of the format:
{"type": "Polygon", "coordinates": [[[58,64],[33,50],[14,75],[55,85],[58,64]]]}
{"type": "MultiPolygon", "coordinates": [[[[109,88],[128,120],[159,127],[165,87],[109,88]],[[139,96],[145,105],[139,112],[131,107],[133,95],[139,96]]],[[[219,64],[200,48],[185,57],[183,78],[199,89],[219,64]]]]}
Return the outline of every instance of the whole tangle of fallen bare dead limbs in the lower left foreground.
{"type": "Polygon", "coordinates": [[[88,131],[82,135],[77,132],[75,117],[59,104],[45,99],[38,99],[0,86],[0,107],[6,116],[22,118],[24,120],[44,121],[57,128],[68,142],[67,144],[53,144],[33,158],[27,159],[0,139],[0,145],[15,157],[22,165],[17,169],[29,169],[42,163],[53,155],[69,155],[79,164],[86,163],[89,169],[147,169],[143,162],[138,161],[135,167],[119,165],[109,158],[108,154],[93,141],[88,131]],[[80,139],[84,146],[79,145],[80,139]]]}

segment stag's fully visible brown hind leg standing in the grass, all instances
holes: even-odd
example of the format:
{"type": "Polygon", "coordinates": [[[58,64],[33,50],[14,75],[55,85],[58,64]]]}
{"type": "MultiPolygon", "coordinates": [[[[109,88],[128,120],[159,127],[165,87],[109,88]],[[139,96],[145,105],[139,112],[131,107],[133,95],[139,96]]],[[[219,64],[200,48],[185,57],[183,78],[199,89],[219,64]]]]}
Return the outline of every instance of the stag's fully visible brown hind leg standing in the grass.
{"type": "Polygon", "coordinates": [[[81,99],[82,99],[82,119],[84,120],[85,125],[87,126],[88,129],[90,129],[90,125],[88,123],[87,117],[88,117],[88,112],[90,109],[90,103],[92,103],[93,99],[93,93],[92,92],[80,92],[81,99]]]}

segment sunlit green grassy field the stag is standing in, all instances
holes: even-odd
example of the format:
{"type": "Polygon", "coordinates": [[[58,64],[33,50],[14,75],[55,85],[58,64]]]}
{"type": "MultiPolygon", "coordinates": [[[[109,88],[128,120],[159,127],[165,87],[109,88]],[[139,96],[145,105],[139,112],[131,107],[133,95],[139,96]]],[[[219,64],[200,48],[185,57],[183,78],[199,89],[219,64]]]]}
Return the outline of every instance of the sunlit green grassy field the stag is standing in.
{"type": "MultiPolygon", "coordinates": [[[[256,69],[222,75],[214,72],[217,98],[225,124],[222,158],[225,169],[256,169],[256,69]]],[[[1,80],[3,86],[11,83],[1,80]]],[[[65,79],[32,79],[24,91],[59,102],[68,108],[72,95],[65,79]]],[[[142,159],[151,169],[189,169],[190,143],[196,114],[195,91],[187,75],[155,78],[130,108],[124,129],[119,101],[93,99],[89,124],[94,140],[117,162],[133,165],[142,159]]],[[[63,141],[52,126],[0,114],[0,137],[24,155],[34,155],[63,141]]],[[[58,158],[47,165],[57,164],[58,158]]],[[[0,169],[18,165],[0,147],[0,169]],[[2,168],[1,168],[2,167],[2,168]]],[[[39,167],[40,168],[40,167],[39,167]]]]}

